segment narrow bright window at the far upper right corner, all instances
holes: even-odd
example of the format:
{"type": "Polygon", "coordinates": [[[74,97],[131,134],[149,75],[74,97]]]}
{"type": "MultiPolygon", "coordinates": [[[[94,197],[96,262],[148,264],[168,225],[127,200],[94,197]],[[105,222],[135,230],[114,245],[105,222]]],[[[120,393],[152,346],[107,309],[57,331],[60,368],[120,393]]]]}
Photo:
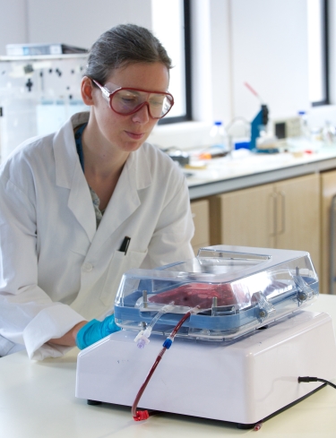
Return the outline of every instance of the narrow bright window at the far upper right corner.
{"type": "Polygon", "coordinates": [[[327,0],[308,0],[309,99],[329,104],[327,0]]]}

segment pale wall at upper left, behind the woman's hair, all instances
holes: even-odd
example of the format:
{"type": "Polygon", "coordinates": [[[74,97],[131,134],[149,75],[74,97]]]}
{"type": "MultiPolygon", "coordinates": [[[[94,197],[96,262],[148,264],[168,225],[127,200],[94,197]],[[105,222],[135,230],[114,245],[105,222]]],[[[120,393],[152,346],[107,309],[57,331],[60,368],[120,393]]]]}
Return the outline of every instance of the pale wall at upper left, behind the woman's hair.
{"type": "Polygon", "coordinates": [[[89,48],[118,23],[151,29],[151,0],[0,0],[0,55],[9,43],[89,48]]]}

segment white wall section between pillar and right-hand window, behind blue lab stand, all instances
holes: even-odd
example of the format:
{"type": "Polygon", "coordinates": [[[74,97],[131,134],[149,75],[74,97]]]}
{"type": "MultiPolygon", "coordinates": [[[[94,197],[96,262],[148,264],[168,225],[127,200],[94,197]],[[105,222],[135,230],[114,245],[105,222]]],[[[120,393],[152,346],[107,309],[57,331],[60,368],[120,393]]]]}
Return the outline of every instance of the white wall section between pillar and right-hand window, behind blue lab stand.
{"type": "Polygon", "coordinates": [[[233,0],[231,22],[234,116],[251,120],[260,106],[244,82],[272,117],[308,109],[306,0],[233,0]]]}

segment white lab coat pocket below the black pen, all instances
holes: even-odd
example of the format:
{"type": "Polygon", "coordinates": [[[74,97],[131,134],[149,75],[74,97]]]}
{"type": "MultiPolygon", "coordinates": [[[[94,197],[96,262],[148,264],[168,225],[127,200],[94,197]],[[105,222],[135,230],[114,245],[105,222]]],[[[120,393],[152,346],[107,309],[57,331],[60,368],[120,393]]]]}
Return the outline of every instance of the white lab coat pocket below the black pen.
{"type": "Polygon", "coordinates": [[[125,271],[139,268],[143,262],[143,259],[146,257],[147,252],[147,250],[143,253],[137,251],[128,251],[125,254],[122,251],[115,251],[112,260],[109,263],[108,275],[100,295],[100,300],[104,305],[112,308],[116,298],[116,291],[119,287],[123,274],[125,271]]]}

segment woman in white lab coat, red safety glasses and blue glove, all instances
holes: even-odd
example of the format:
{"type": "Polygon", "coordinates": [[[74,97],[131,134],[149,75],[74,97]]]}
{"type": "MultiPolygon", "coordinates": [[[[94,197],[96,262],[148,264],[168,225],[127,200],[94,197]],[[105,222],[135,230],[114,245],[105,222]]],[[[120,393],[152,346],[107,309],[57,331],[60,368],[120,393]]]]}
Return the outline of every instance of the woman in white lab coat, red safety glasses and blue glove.
{"type": "Polygon", "coordinates": [[[193,256],[185,177],[145,142],[173,105],[170,66],[148,30],[108,30],[82,79],[90,112],[1,167],[0,356],[89,345],[116,330],[106,315],[126,270],[193,256]]]}

